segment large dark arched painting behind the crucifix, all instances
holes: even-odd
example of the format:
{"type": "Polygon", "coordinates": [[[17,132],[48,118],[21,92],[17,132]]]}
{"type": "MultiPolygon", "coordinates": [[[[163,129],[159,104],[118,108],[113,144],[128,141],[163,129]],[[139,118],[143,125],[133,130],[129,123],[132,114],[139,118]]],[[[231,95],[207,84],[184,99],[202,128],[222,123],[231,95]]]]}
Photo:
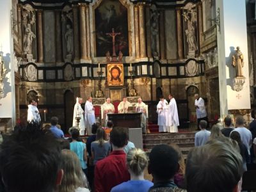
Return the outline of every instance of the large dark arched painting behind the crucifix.
{"type": "Polygon", "coordinates": [[[112,30],[115,35],[115,52],[119,51],[123,56],[129,56],[128,38],[128,10],[118,0],[104,0],[95,8],[95,44],[96,56],[106,56],[109,51],[113,54],[113,37],[107,35],[112,30]]]}

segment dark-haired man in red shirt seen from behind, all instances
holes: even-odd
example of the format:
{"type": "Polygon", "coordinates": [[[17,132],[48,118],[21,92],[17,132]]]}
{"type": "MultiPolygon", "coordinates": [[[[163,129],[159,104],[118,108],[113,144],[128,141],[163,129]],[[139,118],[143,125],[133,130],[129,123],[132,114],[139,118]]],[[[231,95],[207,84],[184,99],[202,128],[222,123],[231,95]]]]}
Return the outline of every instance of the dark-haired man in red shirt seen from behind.
{"type": "Polygon", "coordinates": [[[95,192],[110,191],[114,186],[130,179],[124,152],[127,139],[128,136],[125,128],[114,127],[110,132],[110,143],[113,152],[95,165],[95,192]]]}

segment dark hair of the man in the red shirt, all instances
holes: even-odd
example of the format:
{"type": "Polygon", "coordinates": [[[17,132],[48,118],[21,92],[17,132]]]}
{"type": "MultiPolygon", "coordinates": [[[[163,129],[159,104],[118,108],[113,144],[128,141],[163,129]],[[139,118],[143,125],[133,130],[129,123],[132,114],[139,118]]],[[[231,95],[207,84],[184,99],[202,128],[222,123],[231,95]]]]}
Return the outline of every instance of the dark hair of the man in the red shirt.
{"type": "Polygon", "coordinates": [[[110,132],[110,142],[115,145],[115,147],[125,147],[128,141],[127,128],[124,127],[114,127],[110,132]]]}

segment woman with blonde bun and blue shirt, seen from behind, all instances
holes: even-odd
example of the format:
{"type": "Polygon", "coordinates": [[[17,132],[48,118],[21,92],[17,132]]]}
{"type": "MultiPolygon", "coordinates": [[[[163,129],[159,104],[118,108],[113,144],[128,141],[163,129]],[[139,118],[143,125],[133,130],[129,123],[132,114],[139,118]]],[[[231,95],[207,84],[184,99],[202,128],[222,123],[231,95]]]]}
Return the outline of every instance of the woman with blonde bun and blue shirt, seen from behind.
{"type": "Polygon", "coordinates": [[[126,162],[128,171],[131,174],[131,180],[115,186],[115,188],[111,189],[111,192],[147,192],[153,186],[153,183],[144,179],[144,170],[148,165],[145,152],[140,148],[132,148],[127,153],[126,162]]]}

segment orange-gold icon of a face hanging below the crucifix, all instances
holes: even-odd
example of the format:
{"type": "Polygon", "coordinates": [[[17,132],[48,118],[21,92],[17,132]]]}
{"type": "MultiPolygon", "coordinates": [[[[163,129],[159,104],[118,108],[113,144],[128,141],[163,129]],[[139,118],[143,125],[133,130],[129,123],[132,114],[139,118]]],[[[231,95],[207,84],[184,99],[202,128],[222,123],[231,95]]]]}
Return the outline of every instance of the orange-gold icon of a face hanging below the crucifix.
{"type": "Polygon", "coordinates": [[[119,63],[108,64],[108,86],[124,85],[124,65],[119,63]]]}

